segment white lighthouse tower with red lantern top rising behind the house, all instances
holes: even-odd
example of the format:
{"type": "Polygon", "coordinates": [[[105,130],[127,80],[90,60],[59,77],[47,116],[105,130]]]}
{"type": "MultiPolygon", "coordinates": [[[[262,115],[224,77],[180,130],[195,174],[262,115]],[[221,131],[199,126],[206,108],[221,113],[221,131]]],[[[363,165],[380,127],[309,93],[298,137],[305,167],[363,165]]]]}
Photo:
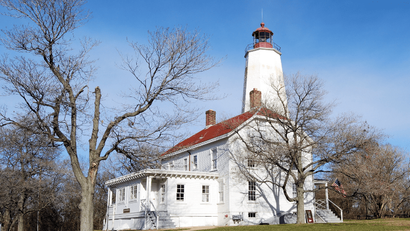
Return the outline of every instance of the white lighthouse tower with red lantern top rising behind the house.
{"type": "MultiPolygon", "coordinates": [[[[245,49],[245,78],[243,81],[242,113],[250,110],[249,93],[254,89],[262,92],[262,102],[284,112],[282,103],[286,104],[283,85],[280,47],[272,42],[273,32],[262,22],[253,33],[253,44],[245,49]]],[[[287,110],[286,110],[287,111],[287,110]]]]}

